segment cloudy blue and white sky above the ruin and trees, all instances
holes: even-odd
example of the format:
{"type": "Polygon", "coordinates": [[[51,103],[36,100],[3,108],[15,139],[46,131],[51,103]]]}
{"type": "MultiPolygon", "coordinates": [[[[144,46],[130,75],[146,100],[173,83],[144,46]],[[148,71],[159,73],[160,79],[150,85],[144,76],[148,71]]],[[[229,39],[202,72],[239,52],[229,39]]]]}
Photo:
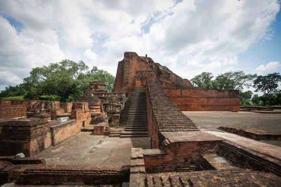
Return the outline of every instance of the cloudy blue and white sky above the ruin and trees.
{"type": "Polygon", "coordinates": [[[115,76],[124,52],[177,75],[281,72],[279,0],[0,1],[0,90],[83,60],[115,76]]]}

